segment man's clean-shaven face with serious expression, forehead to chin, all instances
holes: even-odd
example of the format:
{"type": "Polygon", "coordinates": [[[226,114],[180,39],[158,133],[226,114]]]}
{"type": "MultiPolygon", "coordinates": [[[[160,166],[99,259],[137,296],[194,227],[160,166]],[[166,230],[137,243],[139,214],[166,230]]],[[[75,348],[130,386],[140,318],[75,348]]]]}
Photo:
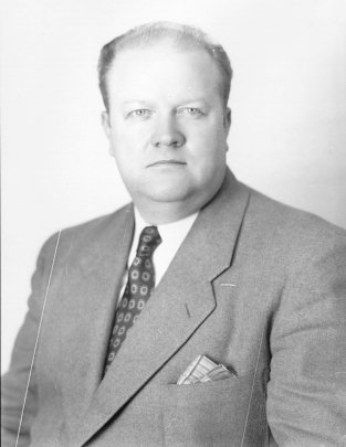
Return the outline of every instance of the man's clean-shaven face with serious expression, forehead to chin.
{"type": "Polygon", "coordinates": [[[103,125],[135,204],[198,211],[226,172],[230,110],[208,53],[169,41],[124,50],[107,75],[103,125]]]}

